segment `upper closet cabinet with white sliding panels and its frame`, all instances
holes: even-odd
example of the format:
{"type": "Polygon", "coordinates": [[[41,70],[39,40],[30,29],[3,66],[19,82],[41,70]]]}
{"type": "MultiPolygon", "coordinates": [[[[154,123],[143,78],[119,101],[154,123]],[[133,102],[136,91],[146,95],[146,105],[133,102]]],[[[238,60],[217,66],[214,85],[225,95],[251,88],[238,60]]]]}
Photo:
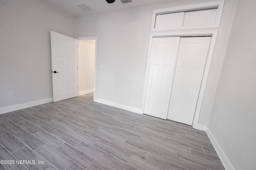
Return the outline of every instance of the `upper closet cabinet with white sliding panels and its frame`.
{"type": "Polygon", "coordinates": [[[151,31],[219,27],[224,0],[153,11],[151,31]]]}

